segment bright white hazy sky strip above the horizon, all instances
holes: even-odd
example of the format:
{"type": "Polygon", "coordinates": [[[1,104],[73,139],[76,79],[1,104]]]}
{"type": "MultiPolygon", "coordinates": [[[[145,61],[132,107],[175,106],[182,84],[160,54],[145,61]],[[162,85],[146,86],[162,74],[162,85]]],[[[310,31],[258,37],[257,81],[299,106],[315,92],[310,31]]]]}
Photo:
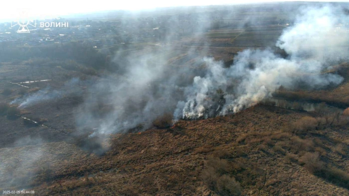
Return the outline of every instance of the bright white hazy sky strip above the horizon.
{"type": "Polygon", "coordinates": [[[23,15],[25,15],[25,17],[35,18],[56,17],[71,13],[101,10],[140,10],[156,7],[237,4],[266,1],[276,0],[1,0],[0,19],[13,19],[23,17],[23,15]],[[23,11],[25,11],[25,13],[23,11]]]}

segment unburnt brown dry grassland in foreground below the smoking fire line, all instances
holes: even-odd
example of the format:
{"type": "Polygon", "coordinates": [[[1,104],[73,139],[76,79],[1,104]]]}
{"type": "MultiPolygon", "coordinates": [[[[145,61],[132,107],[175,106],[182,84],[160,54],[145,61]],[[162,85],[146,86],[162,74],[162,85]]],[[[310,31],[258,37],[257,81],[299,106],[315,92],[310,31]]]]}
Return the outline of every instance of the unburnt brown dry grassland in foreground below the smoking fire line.
{"type": "Polygon", "coordinates": [[[116,134],[109,151],[101,138],[86,134],[49,144],[59,150],[43,152],[50,166],[31,166],[43,169],[35,169],[28,184],[39,195],[345,195],[348,147],[336,134],[346,137],[346,118],[309,114],[258,105],[234,115],[179,120],[167,129],[116,134]]]}

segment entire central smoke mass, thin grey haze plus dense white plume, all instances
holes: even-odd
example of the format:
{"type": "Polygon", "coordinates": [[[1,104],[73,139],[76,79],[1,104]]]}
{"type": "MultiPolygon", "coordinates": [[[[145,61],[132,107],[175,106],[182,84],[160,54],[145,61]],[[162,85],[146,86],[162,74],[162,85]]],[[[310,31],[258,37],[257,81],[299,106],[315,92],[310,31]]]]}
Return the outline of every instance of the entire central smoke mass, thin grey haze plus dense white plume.
{"type": "MultiPolygon", "coordinates": [[[[280,86],[295,89],[303,84],[320,89],[339,85],[344,80],[341,76],[321,73],[346,57],[348,48],[341,46],[348,44],[348,33],[336,25],[347,24],[348,19],[341,7],[303,7],[295,24],[276,43],[287,58],[272,49],[247,49],[228,68],[203,55],[194,68],[168,66],[173,53],[170,46],[126,57],[116,55],[124,72],[91,89],[77,114],[77,124],[98,127],[99,133],[136,126],[145,129],[167,112],[174,114],[174,120],[238,112],[271,97],[280,86]]],[[[197,51],[191,48],[188,54],[197,51]]]]}

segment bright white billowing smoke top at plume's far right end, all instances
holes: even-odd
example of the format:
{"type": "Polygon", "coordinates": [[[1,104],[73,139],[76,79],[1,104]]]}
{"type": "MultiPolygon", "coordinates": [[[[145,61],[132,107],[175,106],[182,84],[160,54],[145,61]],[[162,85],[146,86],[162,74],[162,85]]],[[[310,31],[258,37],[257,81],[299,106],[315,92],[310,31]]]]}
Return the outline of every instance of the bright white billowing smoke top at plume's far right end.
{"type": "MultiPolygon", "coordinates": [[[[345,26],[339,24],[347,24],[348,19],[342,7],[303,7],[295,25],[284,31],[276,46],[291,54],[295,60],[304,56],[308,60],[315,60],[312,63],[318,63],[317,66],[341,60],[346,57],[347,51],[338,46],[348,43],[349,34],[345,26]]],[[[319,67],[312,68],[319,70],[319,67]]]]}

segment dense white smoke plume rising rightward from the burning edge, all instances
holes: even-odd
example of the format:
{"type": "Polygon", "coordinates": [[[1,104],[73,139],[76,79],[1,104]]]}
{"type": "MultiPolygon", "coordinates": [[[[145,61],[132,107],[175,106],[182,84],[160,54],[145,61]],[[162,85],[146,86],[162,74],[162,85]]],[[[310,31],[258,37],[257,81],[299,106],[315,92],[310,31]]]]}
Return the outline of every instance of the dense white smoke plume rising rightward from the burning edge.
{"type": "MultiPolygon", "coordinates": [[[[208,92],[218,88],[226,92],[225,104],[219,112],[224,115],[271,97],[281,85],[293,88],[302,82],[317,89],[340,84],[343,77],[321,72],[328,69],[331,62],[346,58],[348,48],[341,46],[348,44],[348,33],[336,25],[348,21],[341,8],[303,8],[295,25],[287,28],[276,43],[289,58],[281,58],[268,49],[245,50],[228,69],[222,68],[222,62],[206,59],[206,76],[195,77],[193,85],[186,88],[185,104],[179,102],[180,108],[175,114],[178,118],[198,118],[205,110],[215,109],[210,108],[208,92]],[[229,90],[231,86],[234,87],[229,90]]],[[[209,114],[206,112],[204,117],[209,114]]]]}

